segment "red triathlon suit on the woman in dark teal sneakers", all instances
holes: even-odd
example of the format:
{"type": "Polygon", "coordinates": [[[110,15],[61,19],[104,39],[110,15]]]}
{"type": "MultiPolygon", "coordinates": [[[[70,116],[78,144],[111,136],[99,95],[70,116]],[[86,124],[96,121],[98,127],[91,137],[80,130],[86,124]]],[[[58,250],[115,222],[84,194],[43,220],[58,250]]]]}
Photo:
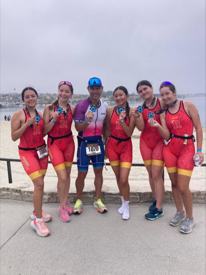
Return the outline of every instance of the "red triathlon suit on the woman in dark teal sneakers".
{"type": "MultiPolygon", "coordinates": [[[[165,166],[162,150],[163,150],[163,138],[159,134],[159,131],[156,127],[151,127],[148,121],[148,114],[150,112],[155,112],[161,110],[161,105],[159,102],[159,98],[157,98],[157,103],[155,108],[149,109],[145,108],[142,112],[144,118],[144,130],[140,135],[140,152],[142,155],[142,159],[144,161],[144,165],[158,165],[165,166]]],[[[154,114],[153,117],[160,125],[160,115],[154,114]]]]}

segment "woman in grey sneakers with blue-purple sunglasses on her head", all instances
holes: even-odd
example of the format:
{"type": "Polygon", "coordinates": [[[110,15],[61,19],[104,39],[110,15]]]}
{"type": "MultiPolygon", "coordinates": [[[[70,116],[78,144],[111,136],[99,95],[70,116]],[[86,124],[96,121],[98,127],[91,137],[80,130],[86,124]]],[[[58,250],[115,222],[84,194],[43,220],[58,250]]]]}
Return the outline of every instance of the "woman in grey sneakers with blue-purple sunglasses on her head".
{"type": "Polygon", "coordinates": [[[190,178],[194,169],[193,156],[195,153],[193,128],[197,134],[197,152],[200,157],[200,165],[204,161],[202,154],[202,127],[196,107],[191,101],[179,101],[176,99],[175,86],[169,82],[160,85],[162,101],[169,107],[160,115],[161,124],[154,118],[148,123],[156,127],[165,139],[163,157],[172,183],[172,193],[176,204],[176,214],[171,219],[172,226],[184,224],[180,232],[190,233],[194,226],[192,194],[189,188],[190,178]],[[183,211],[183,204],[185,211],[183,211]]]}

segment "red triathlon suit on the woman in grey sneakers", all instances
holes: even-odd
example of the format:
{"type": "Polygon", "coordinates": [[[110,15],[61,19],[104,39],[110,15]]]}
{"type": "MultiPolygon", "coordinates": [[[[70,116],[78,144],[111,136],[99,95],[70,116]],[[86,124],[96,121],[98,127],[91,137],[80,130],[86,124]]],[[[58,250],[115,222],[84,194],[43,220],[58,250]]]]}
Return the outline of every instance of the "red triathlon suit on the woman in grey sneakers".
{"type": "Polygon", "coordinates": [[[171,114],[169,110],[166,110],[165,116],[170,134],[190,137],[186,140],[172,137],[168,146],[164,146],[163,157],[167,171],[168,173],[178,172],[178,174],[191,177],[194,169],[193,156],[195,153],[193,121],[185,112],[183,101],[180,101],[179,110],[175,114],[171,114]]]}

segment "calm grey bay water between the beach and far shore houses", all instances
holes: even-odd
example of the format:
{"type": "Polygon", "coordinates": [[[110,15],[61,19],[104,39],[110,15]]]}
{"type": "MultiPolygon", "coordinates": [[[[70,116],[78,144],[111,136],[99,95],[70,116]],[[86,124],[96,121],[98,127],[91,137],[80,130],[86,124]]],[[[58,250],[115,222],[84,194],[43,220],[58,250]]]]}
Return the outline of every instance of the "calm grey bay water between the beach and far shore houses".
{"type": "MultiPolygon", "coordinates": [[[[182,100],[181,98],[178,98],[179,100],[182,100]]],[[[199,112],[199,116],[200,116],[200,120],[201,120],[201,124],[202,127],[206,127],[206,97],[188,97],[188,98],[184,98],[184,100],[189,100],[192,101],[194,103],[194,105],[196,106],[198,112],[199,112]]],[[[136,101],[136,102],[129,102],[130,107],[134,108],[139,106],[143,101],[136,101]]],[[[115,106],[115,102],[114,103],[110,103],[109,107],[111,106],[115,106]]],[[[19,108],[1,108],[0,109],[0,120],[4,120],[4,116],[13,116],[13,113],[17,110],[22,109],[22,107],[19,108]]],[[[44,111],[44,107],[37,107],[37,110],[40,111],[43,114],[44,111]]]]}

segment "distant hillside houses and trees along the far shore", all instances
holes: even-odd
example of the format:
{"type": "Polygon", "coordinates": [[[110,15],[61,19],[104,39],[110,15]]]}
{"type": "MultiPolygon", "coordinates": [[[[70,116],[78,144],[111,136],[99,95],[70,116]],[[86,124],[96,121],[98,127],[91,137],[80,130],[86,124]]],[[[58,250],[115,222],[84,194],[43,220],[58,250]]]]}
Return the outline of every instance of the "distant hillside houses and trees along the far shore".
{"type": "MultiPolygon", "coordinates": [[[[114,103],[113,95],[104,95],[108,92],[103,92],[101,99],[106,103],[114,103]]],[[[113,92],[111,91],[110,94],[113,92]]],[[[156,97],[159,97],[159,94],[154,94],[156,97]]],[[[56,94],[38,94],[37,107],[46,106],[47,104],[51,104],[52,101],[55,100],[56,94]]],[[[185,97],[205,97],[206,94],[198,93],[198,94],[178,94],[177,98],[185,98],[185,97]]],[[[88,94],[74,94],[73,97],[69,100],[69,103],[76,105],[81,100],[88,97],[88,94]]],[[[137,93],[130,94],[129,102],[140,101],[141,98],[137,93]]],[[[9,93],[9,94],[0,94],[0,108],[14,108],[14,107],[23,107],[25,103],[22,101],[21,94],[18,93],[9,93]]]]}

